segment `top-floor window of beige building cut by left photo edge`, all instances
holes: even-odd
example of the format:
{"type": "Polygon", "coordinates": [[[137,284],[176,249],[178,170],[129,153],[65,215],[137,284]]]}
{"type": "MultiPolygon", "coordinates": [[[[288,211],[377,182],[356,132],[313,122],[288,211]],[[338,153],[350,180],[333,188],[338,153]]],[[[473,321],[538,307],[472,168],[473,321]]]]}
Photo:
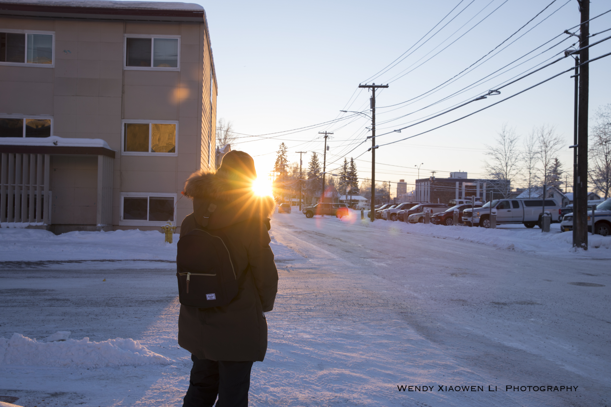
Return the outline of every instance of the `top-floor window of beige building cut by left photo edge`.
{"type": "Polygon", "coordinates": [[[54,34],[0,29],[0,65],[53,67],[54,34]]]}

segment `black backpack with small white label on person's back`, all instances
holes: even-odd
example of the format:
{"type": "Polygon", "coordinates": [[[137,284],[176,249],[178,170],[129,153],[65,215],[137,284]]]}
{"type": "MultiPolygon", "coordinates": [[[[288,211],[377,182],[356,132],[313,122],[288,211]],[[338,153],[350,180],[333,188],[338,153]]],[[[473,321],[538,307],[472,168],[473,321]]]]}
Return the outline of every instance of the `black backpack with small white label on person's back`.
{"type": "Polygon", "coordinates": [[[238,278],[224,234],[194,229],[178,240],[178,298],[197,308],[224,306],[238,294],[238,278]]]}

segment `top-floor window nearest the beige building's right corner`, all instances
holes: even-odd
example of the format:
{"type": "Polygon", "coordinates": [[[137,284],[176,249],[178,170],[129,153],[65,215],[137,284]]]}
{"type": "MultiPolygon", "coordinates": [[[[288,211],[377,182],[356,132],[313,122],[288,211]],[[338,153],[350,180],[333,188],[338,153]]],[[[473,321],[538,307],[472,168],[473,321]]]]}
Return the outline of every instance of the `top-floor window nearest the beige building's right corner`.
{"type": "Polygon", "coordinates": [[[172,38],[154,35],[125,35],[125,69],[178,71],[180,35],[172,38]]]}

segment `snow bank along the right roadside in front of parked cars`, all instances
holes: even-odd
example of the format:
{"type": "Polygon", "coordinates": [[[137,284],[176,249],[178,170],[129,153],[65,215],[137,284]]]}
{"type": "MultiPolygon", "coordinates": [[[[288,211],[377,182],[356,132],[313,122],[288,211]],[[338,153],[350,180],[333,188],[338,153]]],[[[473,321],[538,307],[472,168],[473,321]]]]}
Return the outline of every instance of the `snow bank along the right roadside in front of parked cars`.
{"type": "MultiPolygon", "coordinates": [[[[362,220],[361,226],[385,229],[403,233],[420,234],[442,239],[457,239],[466,242],[480,243],[492,247],[518,251],[544,251],[555,253],[573,252],[573,234],[552,229],[541,233],[541,229],[485,229],[467,226],[443,226],[430,223],[404,223],[376,220],[362,220]]],[[[611,249],[611,236],[592,236],[588,234],[588,248],[611,249]]]]}

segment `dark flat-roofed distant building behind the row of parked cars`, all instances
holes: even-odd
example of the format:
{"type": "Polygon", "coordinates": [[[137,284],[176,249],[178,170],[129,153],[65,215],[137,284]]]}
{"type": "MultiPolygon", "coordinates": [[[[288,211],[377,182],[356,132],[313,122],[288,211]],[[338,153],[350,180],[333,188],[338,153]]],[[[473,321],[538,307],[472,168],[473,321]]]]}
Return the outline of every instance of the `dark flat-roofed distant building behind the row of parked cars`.
{"type": "Polygon", "coordinates": [[[450,173],[450,178],[422,178],[416,180],[414,190],[415,202],[449,203],[450,200],[469,199],[486,202],[489,193],[500,197],[500,191],[492,185],[492,180],[467,178],[467,173],[450,173]]]}

